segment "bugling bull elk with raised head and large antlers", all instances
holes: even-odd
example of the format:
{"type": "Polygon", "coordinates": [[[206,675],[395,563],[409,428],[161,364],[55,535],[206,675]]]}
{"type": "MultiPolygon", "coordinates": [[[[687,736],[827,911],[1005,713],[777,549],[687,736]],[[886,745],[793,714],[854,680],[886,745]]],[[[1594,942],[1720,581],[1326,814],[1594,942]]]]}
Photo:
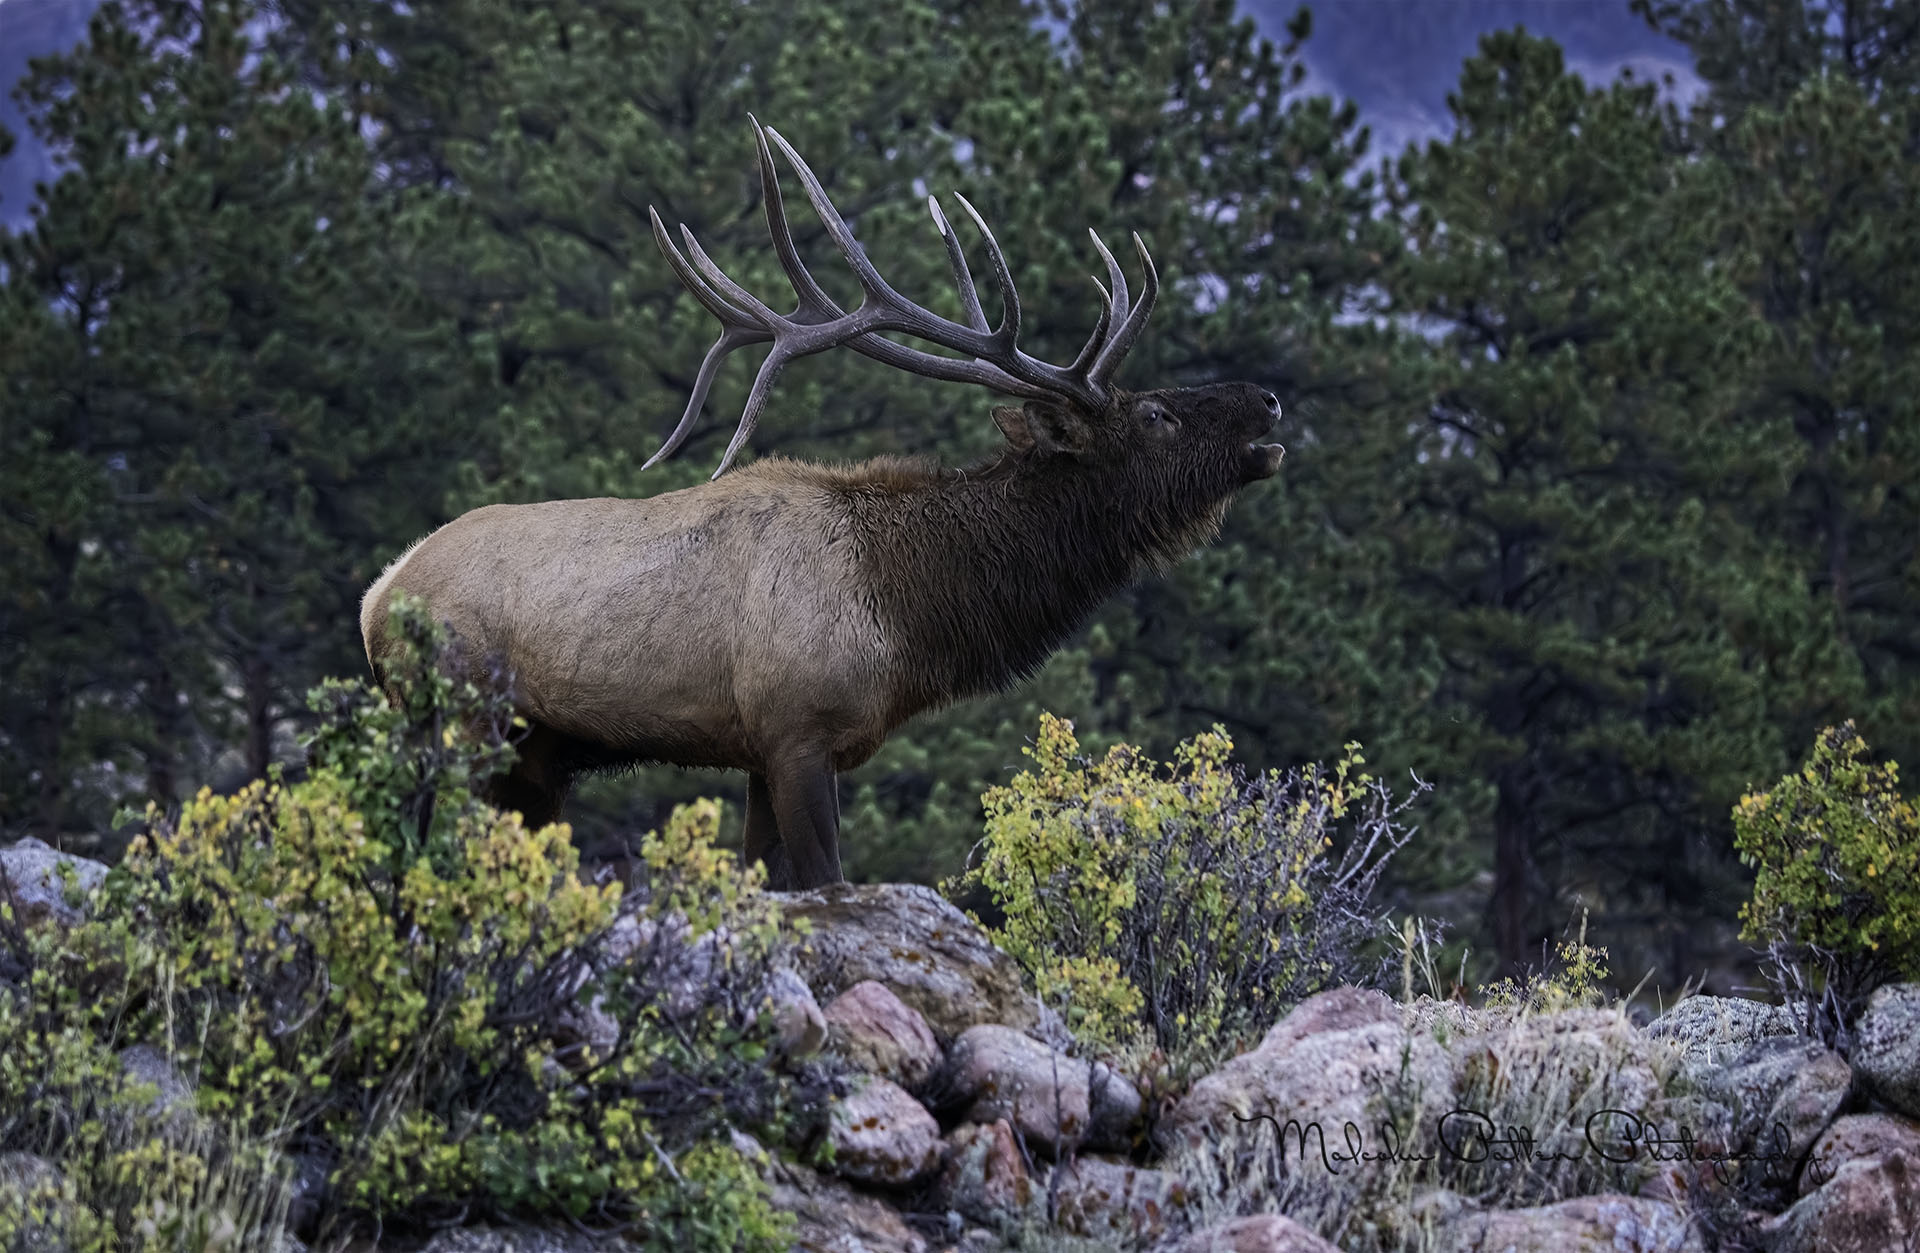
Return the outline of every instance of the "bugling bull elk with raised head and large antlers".
{"type": "Polygon", "coordinates": [[[1068,366],[1018,345],[1020,296],[987,223],[964,198],[1000,290],[989,328],[966,253],[939,201],[964,322],[895,292],[866,259],[820,178],[753,123],[774,251],[799,296],[781,315],[728,278],[682,226],[649,209],[655,242],[716,319],[720,338],[680,424],[685,441],[722,359],[772,343],[710,482],[641,501],[488,505],[399,556],[367,591],[361,633],[380,674],[388,601],[403,589],[505,660],[530,723],[495,802],[551,821],[582,769],[637,762],[747,771],[745,852],[774,887],[841,879],[835,773],[866,762],[922,710],[1031,675],[1112,593],[1212,539],[1236,489],[1273,476],[1258,443],[1279,416],[1252,384],[1121,391],[1112,384],[1160,292],[1106,263],[1092,336],[1068,366]],[[772,148],[860,280],[845,311],[806,272],[787,226],[772,148]],[[904,332],[945,357],[881,336],[904,332]],[[768,457],[726,474],[780,368],[845,345],[927,378],[1021,397],[993,411],[998,455],[964,470],[877,457],[814,464],[768,457]]]}

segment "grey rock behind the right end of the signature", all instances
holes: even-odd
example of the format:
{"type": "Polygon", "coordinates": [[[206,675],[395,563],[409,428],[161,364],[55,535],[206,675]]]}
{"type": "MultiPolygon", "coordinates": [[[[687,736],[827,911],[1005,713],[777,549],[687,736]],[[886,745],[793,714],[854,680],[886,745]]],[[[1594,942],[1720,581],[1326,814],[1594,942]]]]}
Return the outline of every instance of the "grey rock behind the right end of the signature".
{"type": "Polygon", "coordinates": [[[1801,1159],[1847,1099],[1853,1073],[1828,1048],[1778,1036],[1747,1048],[1734,1065],[1705,1073],[1701,1084],[1732,1111],[1732,1147],[1747,1157],[1745,1182],[1788,1190],[1801,1159]]]}

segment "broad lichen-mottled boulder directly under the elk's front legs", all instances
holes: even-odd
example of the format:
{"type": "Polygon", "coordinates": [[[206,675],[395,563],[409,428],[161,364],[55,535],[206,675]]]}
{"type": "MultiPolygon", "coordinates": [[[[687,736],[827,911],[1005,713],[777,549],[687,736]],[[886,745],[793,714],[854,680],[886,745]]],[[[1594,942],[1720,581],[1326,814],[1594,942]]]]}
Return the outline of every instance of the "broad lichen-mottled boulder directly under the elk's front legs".
{"type": "Polygon", "coordinates": [[[1027,1030],[1041,1005],[1020,965],[939,892],[912,883],[839,883],[772,894],[787,921],[806,919],[801,977],[820,996],[874,981],[912,1005],[941,1040],[979,1023],[1027,1030]]]}

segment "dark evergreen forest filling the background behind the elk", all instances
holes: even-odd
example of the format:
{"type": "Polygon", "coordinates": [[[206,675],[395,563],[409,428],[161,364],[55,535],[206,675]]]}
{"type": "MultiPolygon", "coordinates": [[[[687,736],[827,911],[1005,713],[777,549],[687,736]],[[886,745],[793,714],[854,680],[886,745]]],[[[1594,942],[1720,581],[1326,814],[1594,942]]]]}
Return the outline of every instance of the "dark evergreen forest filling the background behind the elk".
{"type": "MultiPolygon", "coordinates": [[[[1233,0],[109,0],[13,88],[60,173],[0,230],[0,840],[111,858],[129,806],[298,769],[361,593],[463,510],[705,480],[753,366],[641,472],[716,334],[647,209],[783,294],[753,113],[912,299],[960,317],[924,201],[964,194],[1068,361],[1087,228],[1139,232],[1119,384],[1284,411],[1215,545],[843,775],[851,877],[960,873],[1043,712],[1252,769],[1357,741],[1430,785],[1390,888],[1482,969],[1586,913],[1628,984],[1751,986],[1734,804],[1843,720],[1920,760],[1920,0],[1619,19],[1705,90],[1513,29],[1379,152],[1306,90],[1309,10],[1275,44],[1233,0]]],[[[966,464],[993,403],[824,353],[751,455],[966,464]]],[[[591,858],[695,796],[737,839],[732,775],[568,817],[591,858]]]]}

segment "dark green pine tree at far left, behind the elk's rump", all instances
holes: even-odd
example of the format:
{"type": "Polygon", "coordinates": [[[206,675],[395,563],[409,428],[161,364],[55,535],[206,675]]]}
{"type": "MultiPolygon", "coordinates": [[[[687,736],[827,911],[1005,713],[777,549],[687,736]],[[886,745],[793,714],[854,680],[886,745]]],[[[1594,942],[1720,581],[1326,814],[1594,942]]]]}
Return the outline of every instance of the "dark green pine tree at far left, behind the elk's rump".
{"type": "MultiPolygon", "coordinates": [[[[263,773],[305,689],[357,664],[376,543],[447,489],[451,324],[396,265],[407,219],[371,205],[353,121],[255,56],[257,15],[109,4],[23,88],[73,167],[4,246],[35,336],[8,390],[31,666],[6,704],[42,720],[6,741],[42,789],[263,773]]],[[[106,816],[33,825],[81,817],[106,816]]]]}

